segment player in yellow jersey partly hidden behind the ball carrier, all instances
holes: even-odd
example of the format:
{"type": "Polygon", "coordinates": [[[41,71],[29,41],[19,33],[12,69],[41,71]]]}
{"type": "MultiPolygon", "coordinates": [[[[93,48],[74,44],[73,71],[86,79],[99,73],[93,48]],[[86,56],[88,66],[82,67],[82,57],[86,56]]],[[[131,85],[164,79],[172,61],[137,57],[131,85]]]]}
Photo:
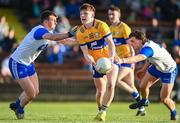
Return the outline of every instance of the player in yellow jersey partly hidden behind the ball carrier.
{"type": "MultiPolygon", "coordinates": [[[[111,32],[116,47],[116,53],[122,58],[134,55],[134,50],[126,43],[126,39],[131,33],[130,27],[120,20],[121,10],[116,6],[110,6],[108,9],[108,17],[111,22],[111,32]]],[[[134,84],[134,65],[128,63],[119,64],[119,73],[117,77],[117,85],[130,93],[136,100],[140,100],[140,94],[134,84]]],[[[144,107],[139,107],[136,116],[144,116],[146,111],[144,107]]]]}

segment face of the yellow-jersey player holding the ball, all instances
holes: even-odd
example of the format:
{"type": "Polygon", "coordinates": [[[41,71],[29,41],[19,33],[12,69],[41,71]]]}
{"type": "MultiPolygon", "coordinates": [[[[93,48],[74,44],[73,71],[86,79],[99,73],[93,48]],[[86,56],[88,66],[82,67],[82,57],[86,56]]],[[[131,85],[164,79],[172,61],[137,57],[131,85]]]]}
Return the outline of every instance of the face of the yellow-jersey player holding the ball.
{"type": "Polygon", "coordinates": [[[88,24],[93,22],[94,20],[94,12],[89,10],[81,10],[80,11],[80,18],[82,24],[88,24]]]}

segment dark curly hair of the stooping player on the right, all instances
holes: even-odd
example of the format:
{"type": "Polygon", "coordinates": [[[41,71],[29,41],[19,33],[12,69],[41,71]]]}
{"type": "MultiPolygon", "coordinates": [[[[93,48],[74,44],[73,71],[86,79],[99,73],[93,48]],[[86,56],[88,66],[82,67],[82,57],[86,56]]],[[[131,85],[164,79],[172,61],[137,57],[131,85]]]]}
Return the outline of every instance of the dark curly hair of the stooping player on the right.
{"type": "Polygon", "coordinates": [[[139,30],[135,30],[135,31],[131,32],[131,34],[129,35],[129,38],[131,38],[131,37],[135,37],[138,40],[142,40],[143,44],[148,42],[146,34],[139,30]]]}

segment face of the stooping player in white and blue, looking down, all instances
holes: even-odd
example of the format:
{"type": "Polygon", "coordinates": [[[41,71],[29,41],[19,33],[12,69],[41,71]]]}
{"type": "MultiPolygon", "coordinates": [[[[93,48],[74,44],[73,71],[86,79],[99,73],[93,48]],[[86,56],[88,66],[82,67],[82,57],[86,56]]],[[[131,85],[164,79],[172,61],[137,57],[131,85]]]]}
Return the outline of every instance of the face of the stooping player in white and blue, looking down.
{"type": "Polygon", "coordinates": [[[135,37],[129,38],[126,42],[131,45],[136,51],[139,51],[142,47],[142,41],[136,39],[135,37]]]}

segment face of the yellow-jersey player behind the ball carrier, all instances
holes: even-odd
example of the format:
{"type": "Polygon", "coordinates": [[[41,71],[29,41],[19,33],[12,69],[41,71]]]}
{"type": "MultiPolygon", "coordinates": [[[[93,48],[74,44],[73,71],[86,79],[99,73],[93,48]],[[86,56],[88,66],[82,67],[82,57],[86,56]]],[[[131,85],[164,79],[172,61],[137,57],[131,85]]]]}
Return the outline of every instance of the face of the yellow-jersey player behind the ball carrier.
{"type": "Polygon", "coordinates": [[[115,22],[119,21],[120,14],[118,11],[108,10],[108,17],[109,17],[109,21],[111,23],[115,23],[115,22]]]}

